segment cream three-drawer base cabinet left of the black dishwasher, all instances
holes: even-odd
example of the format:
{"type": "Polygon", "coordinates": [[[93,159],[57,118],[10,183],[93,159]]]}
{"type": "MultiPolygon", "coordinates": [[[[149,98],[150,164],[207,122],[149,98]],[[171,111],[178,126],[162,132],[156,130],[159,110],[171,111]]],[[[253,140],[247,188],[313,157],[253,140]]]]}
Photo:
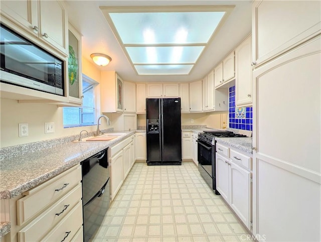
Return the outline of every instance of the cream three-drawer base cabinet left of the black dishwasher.
{"type": "Polygon", "coordinates": [[[1,241],[82,241],[81,179],[76,165],[9,199],[11,231],[1,241]]]}

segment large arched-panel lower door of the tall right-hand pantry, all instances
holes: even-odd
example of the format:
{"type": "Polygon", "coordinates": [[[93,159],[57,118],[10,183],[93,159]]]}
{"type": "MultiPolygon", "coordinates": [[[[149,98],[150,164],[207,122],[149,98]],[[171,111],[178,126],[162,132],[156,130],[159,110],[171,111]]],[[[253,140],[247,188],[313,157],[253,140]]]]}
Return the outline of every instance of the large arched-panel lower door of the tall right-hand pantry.
{"type": "MultiPolygon", "coordinates": [[[[290,3],[296,6],[296,2],[290,3]]],[[[304,16],[309,18],[309,13],[305,12],[304,16]]],[[[275,23],[273,28],[278,26],[275,23]]],[[[319,175],[315,176],[319,174],[321,160],[320,49],[318,36],[252,73],[253,90],[256,90],[253,98],[253,144],[256,147],[253,151],[253,186],[256,186],[253,187],[253,201],[257,202],[253,211],[259,214],[253,214],[253,218],[258,219],[253,221],[253,229],[256,226],[256,232],[266,234],[271,241],[320,240],[320,179],[319,175]],[[273,115],[265,112],[271,108],[273,115]],[[296,110],[301,110],[300,114],[293,118],[296,110]],[[297,136],[293,130],[302,127],[306,120],[314,122],[300,133],[300,145],[295,148],[297,136]],[[281,127],[280,122],[284,124],[281,127]],[[311,227],[311,224],[317,225],[311,227]],[[300,231],[309,232],[302,234],[300,231]]]]}

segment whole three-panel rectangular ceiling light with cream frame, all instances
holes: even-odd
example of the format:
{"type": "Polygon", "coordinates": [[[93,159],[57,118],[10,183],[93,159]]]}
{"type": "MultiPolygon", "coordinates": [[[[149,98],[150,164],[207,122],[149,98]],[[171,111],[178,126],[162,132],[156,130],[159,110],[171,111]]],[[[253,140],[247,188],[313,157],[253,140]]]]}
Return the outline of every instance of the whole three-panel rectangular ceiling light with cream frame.
{"type": "Polygon", "coordinates": [[[138,75],[188,75],[234,7],[100,9],[138,75]]]}

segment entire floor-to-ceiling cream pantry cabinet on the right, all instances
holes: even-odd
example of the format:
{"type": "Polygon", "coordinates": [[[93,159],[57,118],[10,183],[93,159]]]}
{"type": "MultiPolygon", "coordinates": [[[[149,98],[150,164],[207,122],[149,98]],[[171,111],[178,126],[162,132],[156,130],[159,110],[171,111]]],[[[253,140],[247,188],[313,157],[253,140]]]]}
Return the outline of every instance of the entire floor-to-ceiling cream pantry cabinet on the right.
{"type": "Polygon", "coordinates": [[[253,2],[253,233],[259,240],[321,241],[320,3],[253,2]]]}

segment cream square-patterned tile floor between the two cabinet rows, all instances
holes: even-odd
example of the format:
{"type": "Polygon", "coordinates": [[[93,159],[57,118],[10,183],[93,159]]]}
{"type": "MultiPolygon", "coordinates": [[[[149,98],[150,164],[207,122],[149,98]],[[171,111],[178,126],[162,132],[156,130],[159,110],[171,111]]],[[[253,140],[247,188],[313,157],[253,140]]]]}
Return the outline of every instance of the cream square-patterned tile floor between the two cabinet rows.
{"type": "Polygon", "coordinates": [[[244,241],[247,234],[193,162],[135,163],[92,241],[244,241]]]}

